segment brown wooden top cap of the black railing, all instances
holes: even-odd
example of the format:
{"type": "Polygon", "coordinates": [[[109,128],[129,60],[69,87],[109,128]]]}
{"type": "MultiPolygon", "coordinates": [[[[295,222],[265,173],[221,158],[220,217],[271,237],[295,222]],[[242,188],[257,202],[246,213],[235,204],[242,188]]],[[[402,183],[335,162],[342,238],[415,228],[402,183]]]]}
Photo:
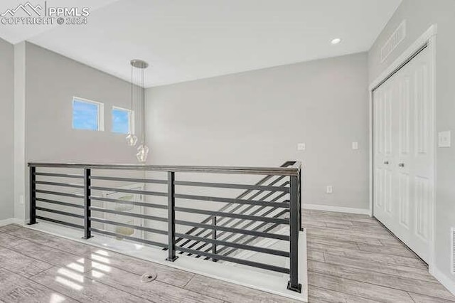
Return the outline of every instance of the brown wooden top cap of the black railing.
{"type": "Polygon", "coordinates": [[[301,169],[299,161],[287,167],[248,167],[248,166],[169,166],[146,164],[77,164],[77,163],[39,163],[30,162],[31,167],[73,168],[73,169],[122,169],[132,171],[173,171],[210,174],[260,174],[276,176],[298,176],[301,169]]]}

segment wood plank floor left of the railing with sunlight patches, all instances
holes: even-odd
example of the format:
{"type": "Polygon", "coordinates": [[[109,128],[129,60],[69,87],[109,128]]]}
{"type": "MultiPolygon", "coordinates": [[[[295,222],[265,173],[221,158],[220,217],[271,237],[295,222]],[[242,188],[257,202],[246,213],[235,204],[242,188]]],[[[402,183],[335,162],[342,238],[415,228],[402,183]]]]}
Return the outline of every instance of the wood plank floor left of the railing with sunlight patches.
{"type": "Polygon", "coordinates": [[[0,302],[291,302],[19,225],[0,227],[0,302]],[[156,281],[140,282],[144,272],[156,281]]]}

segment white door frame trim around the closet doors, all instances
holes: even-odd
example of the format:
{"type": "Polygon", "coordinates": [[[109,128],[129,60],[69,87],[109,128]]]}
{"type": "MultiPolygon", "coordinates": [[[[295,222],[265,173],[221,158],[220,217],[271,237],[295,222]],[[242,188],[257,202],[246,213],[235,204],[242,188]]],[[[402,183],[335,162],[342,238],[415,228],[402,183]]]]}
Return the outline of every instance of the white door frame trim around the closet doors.
{"type": "MultiPolygon", "coordinates": [[[[413,58],[416,53],[419,53],[422,48],[427,45],[427,48],[432,56],[432,76],[430,78],[430,83],[432,85],[432,105],[433,105],[433,131],[434,131],[434,142],[433,142],[433,154],[434,154],[434,178],[433,178],[433,188],[436,188],[436,155],[437,155],[437,144],[435,142],[437,138],[437,131],[436,131],[436,90],[435,90],[435,82],[436,82],[436,36],[437,36],[437,24],[433,24],[430,26],[427,31],[422,33],[422,36],[419,36],[414,43],[412,43],[401,55],[398,56],[396,60],[393,61],[375,80],[373,80],[369,87],[368,87],[368,95],[369,95],[369,200],[370,200],[370,216],[373,217],[373,178],[374,178],[374,146],[373,146],[373,92],[378,87],[378,85],[382,84],[385,80],[390,78],[393,74],[397,72],[400,68],[404,66],[407,61],[413,58]]],[[[432,239],[430,240],[430,248],[429,248],[429,266],[432,267],[434,264],[434,223],[435,223],[435,208],[436,208],[436,192],[433,190],[433,209],[432,209],[432,217],[430,225],[432,227],[432,239]]]]}

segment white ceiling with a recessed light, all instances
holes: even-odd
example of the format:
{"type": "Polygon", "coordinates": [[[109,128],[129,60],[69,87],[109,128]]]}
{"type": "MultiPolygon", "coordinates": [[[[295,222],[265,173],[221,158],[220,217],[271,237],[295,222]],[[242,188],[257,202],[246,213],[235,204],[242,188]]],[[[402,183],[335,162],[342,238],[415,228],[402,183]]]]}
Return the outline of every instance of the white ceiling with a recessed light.
{"type": "MultiPolygon", "coordinates": [[[[125,80],[131,75],[129,60],[140,58],[151,65],[150,87],[369,50],[401,0],[53,0],[48,5],[56,2],[90,7],[87,25],[0,25],[0,37],[31,41],[125,80]],[[342,41],[333,46],[333,38],[342,41]]],[[[2,0],[0,11],[17,3],[2,0]]]]}

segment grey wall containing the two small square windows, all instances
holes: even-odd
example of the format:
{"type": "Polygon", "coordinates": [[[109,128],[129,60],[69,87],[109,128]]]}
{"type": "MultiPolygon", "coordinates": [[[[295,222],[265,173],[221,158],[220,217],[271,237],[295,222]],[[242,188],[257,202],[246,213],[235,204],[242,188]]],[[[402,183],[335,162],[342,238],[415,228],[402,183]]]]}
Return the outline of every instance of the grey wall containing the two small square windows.
{"type": "MultiPolygon", "coordinates": [[[[137,163],[137,151],[127,146],[126,135],[111,132],[112,106],[129,108],[131,104],[131,86],[127,81],[32,43],[25,43],[23,55],[26,163],[137,163]],[[73,96],[105,104],[104,132],[73,129],[73,96]]],[[[26,186],[25,195],[21,194],[28,201],[28,167],[22,176],[26,186]]],[[[16,208],[19,210],[16,218],[28,218],[18,201],[16,208]]]]}

